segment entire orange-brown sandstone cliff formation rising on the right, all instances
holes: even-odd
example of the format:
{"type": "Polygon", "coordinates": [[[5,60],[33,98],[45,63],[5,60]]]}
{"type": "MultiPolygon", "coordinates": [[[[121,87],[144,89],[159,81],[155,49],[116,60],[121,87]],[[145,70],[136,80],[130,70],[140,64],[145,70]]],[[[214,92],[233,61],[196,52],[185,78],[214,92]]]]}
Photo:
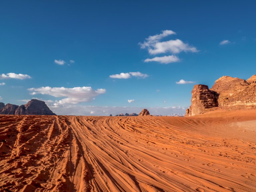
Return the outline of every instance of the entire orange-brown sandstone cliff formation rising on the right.
{"type": "Polygon", "coordinates": [[[186,116],[217,109],[256,108],[256,75],[246,81],[223,76],[211,89],[206,85],[195,85],[191,93],[191,106],[186,110],[186,116]]]}

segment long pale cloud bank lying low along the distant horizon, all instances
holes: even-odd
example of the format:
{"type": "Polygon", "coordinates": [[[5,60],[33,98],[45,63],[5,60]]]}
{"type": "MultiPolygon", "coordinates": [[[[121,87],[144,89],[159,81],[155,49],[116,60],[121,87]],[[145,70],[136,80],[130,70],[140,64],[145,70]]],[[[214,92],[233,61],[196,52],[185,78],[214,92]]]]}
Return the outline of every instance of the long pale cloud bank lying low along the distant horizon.
{"type": "Polygon", "coordinates": [[[181,106],[169,106],[169,107],[116,107],[116,106],[84,106],[84,105],[51,105],[50,109],[58,115],[105,115],[113,116],[120,113],[137,113],[146,108],[149,110],[150,114],[161,114],[161,115],[170,115],[170,114],[184,114],[187,107],[181,106]]]}

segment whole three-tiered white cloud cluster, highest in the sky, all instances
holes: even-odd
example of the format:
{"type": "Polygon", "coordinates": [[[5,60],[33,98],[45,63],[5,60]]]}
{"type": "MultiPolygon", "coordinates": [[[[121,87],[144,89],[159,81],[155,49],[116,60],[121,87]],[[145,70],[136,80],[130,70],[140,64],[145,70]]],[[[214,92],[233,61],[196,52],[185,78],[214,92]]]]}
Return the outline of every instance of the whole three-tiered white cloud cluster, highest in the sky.
{"type": "Polygon", "coordinates": [[[147,49],[150,55],[165,53],[173,54],[169,56],[155,57],[152,59],[148,58],[144,60],[144,62],[156,61],[165,64],[179,62],[180,60],[175,56],[176,54],[179,54],[180,52],[198,52],[196,47],[193,47],[188,43],[184,43],[180,39],[160,42],[164,37],[175,34],[176,33],[174,31],[164,30],[161,34],[149,36],[143,43],[139,43],[141,49],[147,49]]]}

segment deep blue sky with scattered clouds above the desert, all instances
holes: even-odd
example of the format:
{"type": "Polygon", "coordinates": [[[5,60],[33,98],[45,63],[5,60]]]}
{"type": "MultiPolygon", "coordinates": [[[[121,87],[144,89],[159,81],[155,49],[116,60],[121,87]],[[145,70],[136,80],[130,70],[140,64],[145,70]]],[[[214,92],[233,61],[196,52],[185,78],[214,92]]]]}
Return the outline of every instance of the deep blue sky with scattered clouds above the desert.
{"type": "Polygon", "coordinates": [[[39,98],[57,114],[109,115],[143,107],[152,114],[184,113],[195,84],[211,87],[224,75],[256,74],[255,6],[254,1],[2,2],[1,102],[39,98]],[[186,84],[177,84],[180,80],[186,84]]]}

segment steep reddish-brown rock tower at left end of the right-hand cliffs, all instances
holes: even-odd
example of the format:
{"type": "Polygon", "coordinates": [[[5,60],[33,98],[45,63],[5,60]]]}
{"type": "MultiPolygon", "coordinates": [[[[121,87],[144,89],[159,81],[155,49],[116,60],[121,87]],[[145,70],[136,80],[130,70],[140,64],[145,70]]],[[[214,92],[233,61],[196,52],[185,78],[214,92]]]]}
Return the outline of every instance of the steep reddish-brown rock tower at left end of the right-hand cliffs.
{"type": "Polygon", "coordinates": [[[186,110],[186,116],[202,114],[205,109],[218,106],[218,94],[207,85],[195,85],[191,94],[191,106],[186,110]]]}

